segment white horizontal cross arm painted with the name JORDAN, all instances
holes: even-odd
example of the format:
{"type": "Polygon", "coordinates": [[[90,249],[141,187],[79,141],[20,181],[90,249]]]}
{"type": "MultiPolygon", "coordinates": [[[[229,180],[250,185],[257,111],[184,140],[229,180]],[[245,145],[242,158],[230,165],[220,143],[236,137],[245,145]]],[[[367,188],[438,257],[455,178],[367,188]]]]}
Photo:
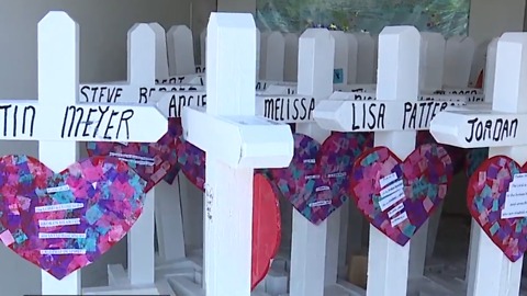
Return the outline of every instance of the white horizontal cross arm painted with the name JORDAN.
{"type": "Polygon", "coordinates": [[[441,144],[461,148],[527,145],[520,130],[527,128],[527,114],[484,110],[446,111],[430,124],[430,133],[441,144]]]}

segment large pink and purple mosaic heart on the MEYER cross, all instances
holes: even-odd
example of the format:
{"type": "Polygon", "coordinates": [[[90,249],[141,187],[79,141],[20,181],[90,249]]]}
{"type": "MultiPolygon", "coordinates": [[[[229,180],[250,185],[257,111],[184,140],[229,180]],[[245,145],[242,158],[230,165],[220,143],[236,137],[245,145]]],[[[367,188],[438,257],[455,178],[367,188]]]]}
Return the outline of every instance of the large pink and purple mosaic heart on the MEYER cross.
{"type": "Polygon", "coordinates": [[[126,235],[143,210],[145,185],[116,158],[88,158],[54,173],[32,157],[2,157],[0,240],[61,280],[126,235]]]}

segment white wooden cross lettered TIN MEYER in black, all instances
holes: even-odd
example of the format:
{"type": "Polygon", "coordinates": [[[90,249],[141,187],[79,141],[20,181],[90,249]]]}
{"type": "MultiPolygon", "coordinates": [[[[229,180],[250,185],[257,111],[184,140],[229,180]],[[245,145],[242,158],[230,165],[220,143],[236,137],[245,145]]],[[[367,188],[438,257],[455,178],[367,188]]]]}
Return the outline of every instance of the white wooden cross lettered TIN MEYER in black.
{"type": "MultiPolygon", "coordinates": [[[[78,78],[78,25],[65,12],[49,12],[38,23],[38,100],[1,102],[0,139],[38,140],[40,160],[60,171],[77,161],[77,141],[152,141],[165,133],[155,107],[79,104],[78,78]]],[[[80,294],[79,275],[57,281],[42,272],[42,294],[80,294]]]]}

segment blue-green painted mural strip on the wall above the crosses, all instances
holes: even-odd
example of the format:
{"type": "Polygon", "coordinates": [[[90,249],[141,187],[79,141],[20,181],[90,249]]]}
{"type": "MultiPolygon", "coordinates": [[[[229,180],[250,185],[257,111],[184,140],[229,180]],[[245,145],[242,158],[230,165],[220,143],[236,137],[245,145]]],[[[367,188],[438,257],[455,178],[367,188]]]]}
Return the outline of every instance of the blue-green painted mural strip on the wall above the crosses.
{"type": "Polygon", "coordinates": [[[445,36],[467,35],[470,0],[257,0],[262,31],[301,32],[335,24],[378,34],[386,25],[412,24],[445,36]]]}

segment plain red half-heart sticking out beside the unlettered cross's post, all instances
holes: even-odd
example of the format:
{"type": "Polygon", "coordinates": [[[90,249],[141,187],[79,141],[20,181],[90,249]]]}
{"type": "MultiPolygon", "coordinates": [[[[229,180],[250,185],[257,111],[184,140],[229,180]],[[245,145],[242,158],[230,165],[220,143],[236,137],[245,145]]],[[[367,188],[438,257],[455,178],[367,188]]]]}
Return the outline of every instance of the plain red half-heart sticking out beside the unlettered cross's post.
{"type": "Polygon", "coordinates": [[[281,218],[278,190],[265,174],[255,174],[253,192],[251,288],[255,288],[266,277],[278,253],[281,218]]]}

